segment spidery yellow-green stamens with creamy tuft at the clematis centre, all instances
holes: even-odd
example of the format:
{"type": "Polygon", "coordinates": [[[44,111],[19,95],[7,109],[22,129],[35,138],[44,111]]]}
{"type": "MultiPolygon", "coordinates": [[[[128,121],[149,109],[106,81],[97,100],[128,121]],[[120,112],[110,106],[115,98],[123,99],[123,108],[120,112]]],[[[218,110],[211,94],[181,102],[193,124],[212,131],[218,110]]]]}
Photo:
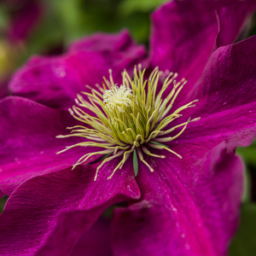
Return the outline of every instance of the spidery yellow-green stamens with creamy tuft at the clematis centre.
{"type": "MultiPolygon", "coordinates": [[[[131,79],[129,74],[124,71],[123,84],[119,87],[113,83],[112,73],[110,70],[109,80],[104,79],[103,88],[96,84],[96,88],[90,88],[91,93],[82,92],[87,96],[78,95],[76,99],[77,105],[82,108],[88,108],[96,114],[91,116],[84,112],[81,108],[73,106],[73,110],[69,109],[75,119],[83,122],[90,128],[83,125],[74,126],[67,129],[72,129],[71,134],[58,137],[83,137],[86,141],[72,146],[68,146],[59,153],[67,149],[77,146],[82,147],[97,147],[103,148],[96,152],[84,154],[78,162],[73,165],[73,168],[86,162],[93,155],[103,155],[102,163],[96,169],[96,177],[100,168],[109,160],[113,160],[119,156],[123,156],[118,166],[115,167],[112,174],[108,177],[113,177],[114,172],[121,169],[129,156],[133,154],[133,166],[135,176],[137,176],[138,165],[137,155],[139,159],[148,166],[151,172],[154,172],[152,166],[144,160],[143,155],[150,155],[164,159],[164,155],[152,154],[150,148],[166,149],[177,157],[181,155],[168,148],[165,144],[179,137],[186,129],[189,122],[197,121],[197,119],[188,119],[187,122],[166,129],[174,119],[182,116],[180,112],[183,109],[195,107],[194,102],[189,102],[175,111],[172,110],[173,102],[177,98],[183,85],[187,83],[182,79],[176,82],[177,73],[169,73],[165,81],[160,87],[160,72],[158,67],[149,75],[148,80],[144,80],[145,69],[141,70],[140,65],[134,68],[134,79],[131,79]],[[173,84],[171,92],[163,97],[167,87],[173,84]],[[158,86],[160,87],[157,90],[158,86]],[[107,90],[108,88],[108,90],[107,90]],[[157,91],[159,91],[157,93],[157,91]],[[175,136],[166,137],[178,127],[183,127],[175,136]]],[[[96,180],[95,177],[95,180],[96,180]]]]}

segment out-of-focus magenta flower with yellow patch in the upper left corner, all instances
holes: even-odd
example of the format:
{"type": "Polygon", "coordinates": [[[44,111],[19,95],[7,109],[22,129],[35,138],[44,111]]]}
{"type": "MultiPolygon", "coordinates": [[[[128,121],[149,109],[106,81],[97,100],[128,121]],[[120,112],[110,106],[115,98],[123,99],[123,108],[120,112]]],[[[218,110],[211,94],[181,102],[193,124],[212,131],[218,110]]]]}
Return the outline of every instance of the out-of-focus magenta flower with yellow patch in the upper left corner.
{"type": "Polygon", "coordinates": [[[9,26],[0,29],[0,99],[9,96],[8,82],[17,68],[18,57],[24,52],[26,39],[31,35],[43,6],[39,1],[1,0],[0,9],[9,10],[9,26]]]}

